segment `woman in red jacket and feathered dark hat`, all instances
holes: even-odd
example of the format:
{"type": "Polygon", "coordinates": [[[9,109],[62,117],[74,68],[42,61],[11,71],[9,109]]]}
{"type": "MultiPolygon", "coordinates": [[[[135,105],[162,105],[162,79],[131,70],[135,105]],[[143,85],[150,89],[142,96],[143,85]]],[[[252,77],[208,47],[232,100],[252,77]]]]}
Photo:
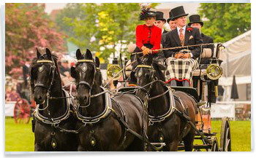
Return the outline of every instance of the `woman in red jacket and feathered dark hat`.
{"type": "MultiPolygon", "coordinates": [[[[150,7],[143,6],[140,13],[140,20],[144,20],[143,25],[138,25],[136,28],[136,48],[134,52],[143,52],[143,54],[138,54],[139,57],[142,55],[152,54],[157,56],[157,50],[160,49],[162,30],[154,25],[156,20],[157,11],[151,9],[150,7]]],[[[136,55],[131,55],[131,61],[137,58],[136,55]]],[[[132,65],[132,70],[137,66],[137,63],[132,65]]],[[[136,79],[134,72],[131,72],[129,84],[136,84],[136,79]]]]}

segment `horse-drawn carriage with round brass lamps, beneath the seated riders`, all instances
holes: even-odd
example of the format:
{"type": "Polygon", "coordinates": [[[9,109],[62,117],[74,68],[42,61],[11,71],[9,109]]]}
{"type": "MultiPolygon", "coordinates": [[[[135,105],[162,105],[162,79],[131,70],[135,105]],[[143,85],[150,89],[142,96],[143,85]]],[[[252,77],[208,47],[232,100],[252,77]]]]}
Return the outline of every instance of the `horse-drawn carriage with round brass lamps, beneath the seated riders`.
{"type": "MultiPolygon", "coordinates": [[[[135,47],[135,44],[130,44],[128,52],[132,53],[135,47]]],[[[215,53],[209,49],[203,49],[200,60],[204,58],[208,60],[208,63],[200,63],[198,68],[193,71],[192,81],[197,82],[193,83],[191,87],[171,87],[174,91],[186,92],[197,100],[197,116],[194,128],[195,140],[199,141],[194,142],[194,151],[231,151],[230,121],[228,117],[222,118],[220,143],[217,139],[217,133],[211,131],[211,103],[216,103],[218,79],[222,75],[222,68],[220,67],[222,60],[219,59],[219,53],[223,48],[225,47],[222,44],[217,44],[215,53]],[[214,55],[211,53],[214,53],[214,55]],[[206,91],[204,87],[208,88],[208,96],[204,92],[206,91]],[[202,143],[199,143],[200,141],[202,143]]],[[[127,82],[125,81],[127,78],[125,74],[129,74],[131,71],[131,68],[123,68],[127,63],[129,65],[129,61],[125,60],[123,63],[121,60],[121,63],[118,64],[116,59],[113,60],[113,65],[108,68],[108,76],[113,78],[114,84],[124,83],[124,87],[119,89],[118,92],[135,92],[133,90],[138,88],[125,86],[127,82]],[[118,65],[121,65],[121,67],[118,65]],[[117,73],[120,71],[123,71],[123,74],[118,75],[117,73]],[[118,81],[121,75],[123,75],[124,80],[118,81]]],[[[154,144],[157,145],[157,143],[154,144]]],[[[184,150],[183,142],[179,143],[178,150],[184,150]]]]}

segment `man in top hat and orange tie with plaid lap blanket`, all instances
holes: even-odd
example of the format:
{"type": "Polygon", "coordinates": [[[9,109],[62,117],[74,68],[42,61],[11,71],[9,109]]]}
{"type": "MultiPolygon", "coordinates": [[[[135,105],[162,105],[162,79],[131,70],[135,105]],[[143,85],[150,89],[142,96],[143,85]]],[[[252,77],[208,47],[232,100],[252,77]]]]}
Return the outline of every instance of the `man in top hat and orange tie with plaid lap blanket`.
{"type": "Polygon", "coordinates": [[[192,71],[197,68],[196,58],[200,56],[200,46],[184,47],[195,44],[203,44],[200,31],[197,28],[187,26],[187,13],[184,7],[176,7],[170,10],[173,20],[176,22],[177,28],[166,33],[165,48],[181,47],[173,50],[164,50],[165,63],[167,71],[165,76],[166,83],[171,86],[177,86],[182,83],[184,87],[189,87],[192,80],[192,71]]]}

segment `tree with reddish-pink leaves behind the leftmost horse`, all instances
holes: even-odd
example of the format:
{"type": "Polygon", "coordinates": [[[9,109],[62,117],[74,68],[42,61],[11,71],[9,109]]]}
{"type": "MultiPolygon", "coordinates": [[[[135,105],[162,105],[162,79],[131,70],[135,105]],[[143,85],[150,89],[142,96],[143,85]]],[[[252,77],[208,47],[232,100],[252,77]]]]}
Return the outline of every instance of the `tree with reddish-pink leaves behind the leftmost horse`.
{"type": "Polygon", "coordinates": [[[20,74],[20,63],[34,58],[36,47],[64,52],[65,35],[57,30],[55,23],[45,13],[45,4],[6,4],[6,73],[13,77],[20,74]]]}

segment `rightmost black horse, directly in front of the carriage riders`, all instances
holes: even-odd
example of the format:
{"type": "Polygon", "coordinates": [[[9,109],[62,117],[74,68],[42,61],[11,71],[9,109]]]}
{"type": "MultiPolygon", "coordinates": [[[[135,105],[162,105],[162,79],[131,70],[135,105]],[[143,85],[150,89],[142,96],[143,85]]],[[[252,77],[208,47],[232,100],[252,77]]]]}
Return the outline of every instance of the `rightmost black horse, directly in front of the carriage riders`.
{"type": "Polygon", "coordinates": [[[173,92],[165,86],[165,76],[151,56],[138,60],[135,76],[141,88],[136,95],[142,99],[148,96],[149,126],[148,137],[151,142],[165,142],[163,151],[177,151],[183,140],[185,151],[192,151],[195,136],[194,128],[183,121],[174,111],[187,113],[195,125],[195,100],[184,92],[173,92]],[[170,91],[170,92],[169,92],[170,91]]]}

